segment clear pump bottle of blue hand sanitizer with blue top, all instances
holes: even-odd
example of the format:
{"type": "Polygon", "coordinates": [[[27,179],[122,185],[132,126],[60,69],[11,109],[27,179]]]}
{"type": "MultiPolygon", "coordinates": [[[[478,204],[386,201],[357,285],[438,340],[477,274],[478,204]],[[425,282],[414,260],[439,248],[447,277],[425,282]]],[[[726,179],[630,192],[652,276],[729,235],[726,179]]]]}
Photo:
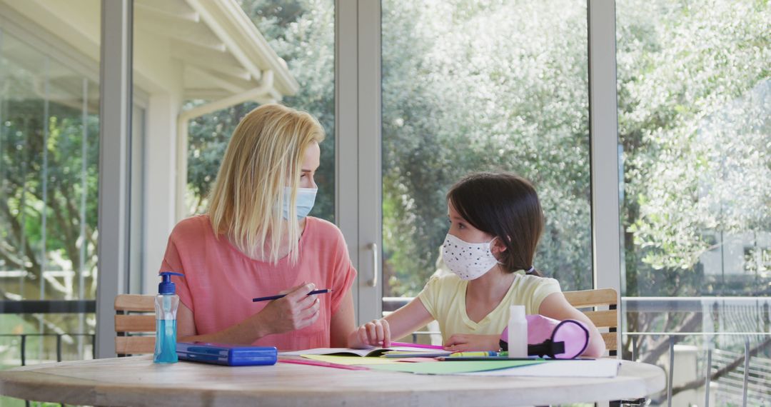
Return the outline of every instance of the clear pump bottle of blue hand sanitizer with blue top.
{"type": "Polygon", "coordinates": [[[172,275],[184,277],[184,274],[163,271],[159,273],[162,281],[158,284],[155,298],[155,354],[153,362],[177,362],[177,307],[180,297],[175,294],[176,287],[171,282],[172,275]]]}

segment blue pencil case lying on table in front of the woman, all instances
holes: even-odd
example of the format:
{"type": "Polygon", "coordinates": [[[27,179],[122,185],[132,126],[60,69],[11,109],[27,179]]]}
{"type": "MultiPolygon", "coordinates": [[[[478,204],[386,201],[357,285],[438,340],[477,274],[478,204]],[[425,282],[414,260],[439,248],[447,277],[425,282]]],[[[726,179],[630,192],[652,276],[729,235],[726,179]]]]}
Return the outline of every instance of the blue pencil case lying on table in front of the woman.
{"type": "Polygon", "coordinates": [[[278,350],[273,346],[177,342],[177,356],[181,360],[214,365],[275,365],[278,359],[278,350]]]}

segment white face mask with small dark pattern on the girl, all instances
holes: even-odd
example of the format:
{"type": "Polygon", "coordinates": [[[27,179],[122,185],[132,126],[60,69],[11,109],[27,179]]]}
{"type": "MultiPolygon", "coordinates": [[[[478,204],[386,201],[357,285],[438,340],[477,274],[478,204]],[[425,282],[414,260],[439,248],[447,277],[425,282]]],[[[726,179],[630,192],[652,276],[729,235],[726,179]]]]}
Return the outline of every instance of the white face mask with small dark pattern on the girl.
{"type": "Polygon", "coordinates": [[[449,271],[457,274],[461,280],[480,278],[498,264],[498,259],[490,250],[493,241],[469,243],[447,234],[442,245],[442,260],[449,271]]]}

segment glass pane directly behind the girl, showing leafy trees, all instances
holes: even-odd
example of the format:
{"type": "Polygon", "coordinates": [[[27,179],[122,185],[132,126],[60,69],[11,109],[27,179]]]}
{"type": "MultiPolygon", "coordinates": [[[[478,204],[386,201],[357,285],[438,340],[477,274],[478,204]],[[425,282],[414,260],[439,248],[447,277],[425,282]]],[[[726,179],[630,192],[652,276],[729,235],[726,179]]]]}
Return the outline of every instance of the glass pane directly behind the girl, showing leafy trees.
{"type": "Polygon", "coordinates": [[[445,194],[467,173],[531,180],[535,267],[591,288],[586,2],[382,2],[383,309],[437,270],[445,194]]]}

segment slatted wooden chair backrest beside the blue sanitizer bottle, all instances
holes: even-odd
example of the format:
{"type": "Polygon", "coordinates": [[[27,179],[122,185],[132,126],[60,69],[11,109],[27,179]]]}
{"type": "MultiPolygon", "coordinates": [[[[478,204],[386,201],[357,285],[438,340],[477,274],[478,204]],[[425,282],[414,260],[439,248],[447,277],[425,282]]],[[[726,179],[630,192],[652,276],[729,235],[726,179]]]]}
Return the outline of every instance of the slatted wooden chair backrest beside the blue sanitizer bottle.
{"type": "Polygon", "coordinates": [[[119,294],[115,298],[115,353],[118,356],[155,350],[155,295],[119,294]]]}

